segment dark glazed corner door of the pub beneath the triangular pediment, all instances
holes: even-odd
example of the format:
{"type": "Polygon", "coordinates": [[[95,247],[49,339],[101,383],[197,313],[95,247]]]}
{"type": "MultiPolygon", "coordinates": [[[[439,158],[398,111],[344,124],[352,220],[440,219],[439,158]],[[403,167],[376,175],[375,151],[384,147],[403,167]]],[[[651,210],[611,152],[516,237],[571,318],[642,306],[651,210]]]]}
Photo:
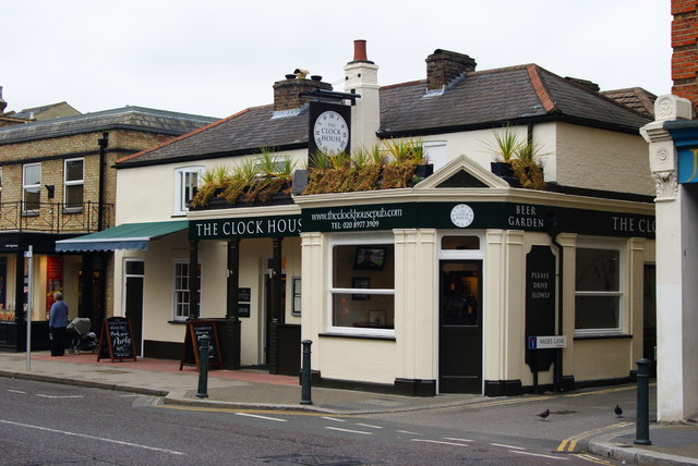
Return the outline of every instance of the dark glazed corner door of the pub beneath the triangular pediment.
{"type": "Polygon", "coordinates": [[[482,393],[482,261],[440,262],[438,391],[482,393]]]}

